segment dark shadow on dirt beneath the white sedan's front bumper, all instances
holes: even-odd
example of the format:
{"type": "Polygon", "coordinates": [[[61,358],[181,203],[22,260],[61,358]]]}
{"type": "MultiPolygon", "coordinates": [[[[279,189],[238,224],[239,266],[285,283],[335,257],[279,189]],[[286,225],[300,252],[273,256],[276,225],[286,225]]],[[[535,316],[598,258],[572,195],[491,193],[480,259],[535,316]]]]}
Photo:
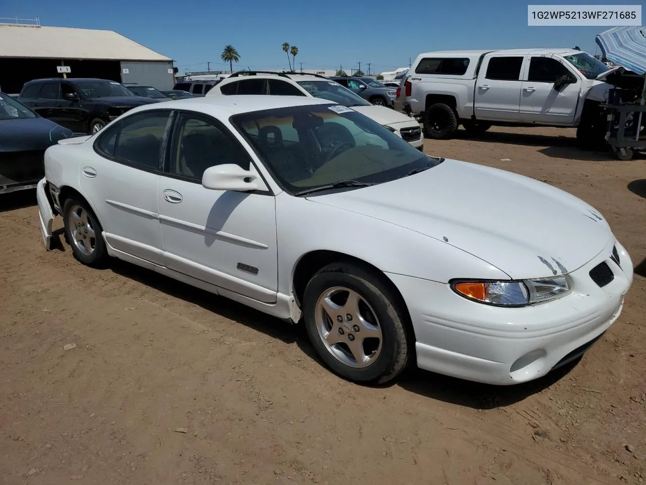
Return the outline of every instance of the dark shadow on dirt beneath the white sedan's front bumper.
{"type": "Polygon", "coordinates": [[[550,385],[561,380],[581,360],[578,359],[555,369],[542,378],[516,385],[490,385],[470,382],[435,372],[410,369],[402,375],[396,385],[411,393],[457,404],[472,409],[495,409],[515,404],[545,391],[550,385]]]}

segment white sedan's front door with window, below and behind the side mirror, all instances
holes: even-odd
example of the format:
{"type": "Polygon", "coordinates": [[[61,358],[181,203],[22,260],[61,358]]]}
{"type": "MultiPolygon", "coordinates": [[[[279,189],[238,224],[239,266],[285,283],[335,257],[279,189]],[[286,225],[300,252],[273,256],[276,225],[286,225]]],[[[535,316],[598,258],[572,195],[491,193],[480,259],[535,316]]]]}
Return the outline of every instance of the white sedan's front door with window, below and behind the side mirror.
{"type": "Polygon", "coordinates": [[[171,155],[159,186],[166,266],[264,303],[278,291],[275,198],[269,192],[211,190],[205,169],[251,166],[251,157],[225,125],[180,112],[171,155]]]}

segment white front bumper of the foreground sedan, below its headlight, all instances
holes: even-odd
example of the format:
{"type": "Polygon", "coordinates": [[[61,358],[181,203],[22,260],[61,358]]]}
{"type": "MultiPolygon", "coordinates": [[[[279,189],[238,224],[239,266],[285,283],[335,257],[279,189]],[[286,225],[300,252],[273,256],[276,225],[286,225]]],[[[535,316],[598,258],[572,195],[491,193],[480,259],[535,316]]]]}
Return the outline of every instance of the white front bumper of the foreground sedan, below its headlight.
{"type": "Polygon", "coordinates": [[[500,308],[469,301],[449,285],[388,274],[402,293],[415,330],[417,365],[476,382],[509,385],[544,376],[587,350],[619,317],[632,283],[632,261],[616,243],[570,273],[572,292],[541,305],[500,308]],[[589,272],[608,264],[614,279],[603,288],[589,272]]]}

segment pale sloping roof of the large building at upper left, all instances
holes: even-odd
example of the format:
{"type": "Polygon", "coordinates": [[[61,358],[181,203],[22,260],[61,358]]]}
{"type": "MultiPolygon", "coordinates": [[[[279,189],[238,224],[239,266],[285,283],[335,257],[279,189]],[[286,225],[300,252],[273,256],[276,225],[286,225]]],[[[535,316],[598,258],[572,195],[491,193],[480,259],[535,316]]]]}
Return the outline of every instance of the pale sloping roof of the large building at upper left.
{"type": "Polygon", "coordinates": [[[113,30],[0,24],[0,58],[172,61],[113,30]]]}

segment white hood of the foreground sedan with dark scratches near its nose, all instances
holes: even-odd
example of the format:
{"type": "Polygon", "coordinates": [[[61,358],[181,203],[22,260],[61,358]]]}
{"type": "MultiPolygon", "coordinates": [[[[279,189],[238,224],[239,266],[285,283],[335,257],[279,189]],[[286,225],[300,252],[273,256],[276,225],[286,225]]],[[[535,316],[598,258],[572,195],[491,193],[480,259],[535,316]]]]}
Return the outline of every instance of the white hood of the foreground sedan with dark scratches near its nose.
{"type": "Polygon", "coordinates": [[[309,200],[428,235],[483,259],[512,279],[572,272],[613,237],[598,211],[561,189],[458,160],[309,200]]]}

